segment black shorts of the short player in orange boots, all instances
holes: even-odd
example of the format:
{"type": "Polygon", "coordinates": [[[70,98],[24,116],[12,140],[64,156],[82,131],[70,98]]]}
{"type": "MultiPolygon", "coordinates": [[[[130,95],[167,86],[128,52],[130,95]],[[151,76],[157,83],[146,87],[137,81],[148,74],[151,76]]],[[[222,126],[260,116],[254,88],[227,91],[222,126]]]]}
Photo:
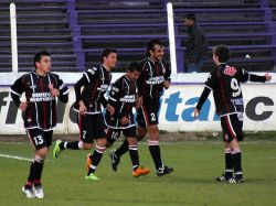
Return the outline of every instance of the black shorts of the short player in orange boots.
{"type": "Polygon", "coordinates": [[[107,129],[106,140],[109,144],[113,144],[119,137],[120,132],[124,133],[125,138],[137,138],[136,127],[126,129],[107,129]]]}

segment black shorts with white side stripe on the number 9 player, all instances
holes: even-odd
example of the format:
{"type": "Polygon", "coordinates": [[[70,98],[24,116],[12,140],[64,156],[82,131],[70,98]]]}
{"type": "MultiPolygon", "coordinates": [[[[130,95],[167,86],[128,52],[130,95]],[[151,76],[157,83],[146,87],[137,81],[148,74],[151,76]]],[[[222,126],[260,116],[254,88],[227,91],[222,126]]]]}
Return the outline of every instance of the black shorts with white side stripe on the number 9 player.
{"type": "Polygon", "coordinates": [[[243,141],[243,113],[233,113],[221,117],[221,126],[224,142],[230,143],[234,139],[243,141]]]}

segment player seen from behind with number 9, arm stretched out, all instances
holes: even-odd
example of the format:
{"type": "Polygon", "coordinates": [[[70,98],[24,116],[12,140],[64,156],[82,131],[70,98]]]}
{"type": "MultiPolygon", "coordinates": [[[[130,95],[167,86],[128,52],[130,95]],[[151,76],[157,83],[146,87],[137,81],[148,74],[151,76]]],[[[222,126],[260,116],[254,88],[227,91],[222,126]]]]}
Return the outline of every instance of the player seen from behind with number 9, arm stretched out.
{"type": "Polygon", "coordinates": [[[200,110],[213,91],[216,113],[221,118],[225,152],[225,173],[216,181],[227,183],[243,183],[242,153],[238,141],[243,141],[243,112],[244,101],[240,87],[241,83],[247,80],[265,83],[272,79],[269,74],[265,76],[253,75],[245,69],[238,69],[227,64],[230,50],[225,45],[213,48],[213,61],[216,65],[206,82],[199,102],[194,109],[194,116],[200,115],[200,110]]]}

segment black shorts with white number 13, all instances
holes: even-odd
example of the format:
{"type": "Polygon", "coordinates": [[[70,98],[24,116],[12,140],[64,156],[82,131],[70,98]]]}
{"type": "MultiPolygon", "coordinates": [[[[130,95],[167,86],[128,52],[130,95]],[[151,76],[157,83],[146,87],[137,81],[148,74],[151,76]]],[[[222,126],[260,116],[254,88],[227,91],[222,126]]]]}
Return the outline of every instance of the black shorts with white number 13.
{"type": "Polygon", "coordinates": [[[35,151],[52,145],[53,130],[28,129],[26,134],[35,151]]]}

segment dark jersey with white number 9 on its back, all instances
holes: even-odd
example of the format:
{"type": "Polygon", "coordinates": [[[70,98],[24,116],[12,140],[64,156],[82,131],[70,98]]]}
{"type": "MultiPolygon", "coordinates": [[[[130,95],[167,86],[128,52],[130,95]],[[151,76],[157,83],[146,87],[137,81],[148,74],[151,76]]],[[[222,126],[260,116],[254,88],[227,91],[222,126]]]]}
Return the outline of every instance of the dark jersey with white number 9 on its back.
{"type": "Polygon", "coordinates": [[[243,112],[244,101],[240,84],[247,80],[265,82],[266,77],[250,74],[245,69],[237,69],[227,64],[221,64],[210,73],[197,108],[201,109],[210,91],[213,90],[219,116],[243,112]]]}

